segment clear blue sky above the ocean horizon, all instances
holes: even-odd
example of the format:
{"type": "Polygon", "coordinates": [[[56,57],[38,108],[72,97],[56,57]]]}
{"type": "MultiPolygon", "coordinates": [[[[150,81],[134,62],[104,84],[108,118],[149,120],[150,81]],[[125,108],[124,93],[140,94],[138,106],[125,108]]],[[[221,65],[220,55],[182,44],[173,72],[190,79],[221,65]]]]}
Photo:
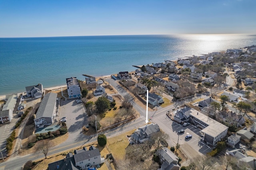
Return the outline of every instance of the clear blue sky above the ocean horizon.
{"type": "Polygon", "coordinates": [[[256,0],[0,0],[0,37],[256,33],[256,0]]]}

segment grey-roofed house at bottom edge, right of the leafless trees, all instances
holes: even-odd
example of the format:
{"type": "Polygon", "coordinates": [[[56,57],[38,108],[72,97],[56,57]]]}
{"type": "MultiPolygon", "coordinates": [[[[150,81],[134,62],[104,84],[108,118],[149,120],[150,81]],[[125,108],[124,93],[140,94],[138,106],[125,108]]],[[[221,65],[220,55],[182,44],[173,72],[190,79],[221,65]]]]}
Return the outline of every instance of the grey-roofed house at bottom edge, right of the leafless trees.
{"type": "Polygon", "coordinates": [[[160,147],[156,154],[159,157],[161,165],[160,170],[179,170],[180,166],[178,164],[179,158],[168,148],[160,147]]]}

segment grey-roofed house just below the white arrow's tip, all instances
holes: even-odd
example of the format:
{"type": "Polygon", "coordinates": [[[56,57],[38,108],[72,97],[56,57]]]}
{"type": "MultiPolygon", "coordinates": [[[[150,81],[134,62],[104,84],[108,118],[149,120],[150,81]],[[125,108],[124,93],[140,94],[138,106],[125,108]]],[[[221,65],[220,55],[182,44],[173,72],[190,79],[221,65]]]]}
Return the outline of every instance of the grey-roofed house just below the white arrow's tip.
{"type": "Polygon", "coordinates": [[[130,138],[131,144],[140,144],[144,141],[147,141],[152,133],[159,132],[160,128],[158,124],[151,123],[149,125],[144,125],[142,127],[139,127],[138,130],[134,131],[130,138]]]}

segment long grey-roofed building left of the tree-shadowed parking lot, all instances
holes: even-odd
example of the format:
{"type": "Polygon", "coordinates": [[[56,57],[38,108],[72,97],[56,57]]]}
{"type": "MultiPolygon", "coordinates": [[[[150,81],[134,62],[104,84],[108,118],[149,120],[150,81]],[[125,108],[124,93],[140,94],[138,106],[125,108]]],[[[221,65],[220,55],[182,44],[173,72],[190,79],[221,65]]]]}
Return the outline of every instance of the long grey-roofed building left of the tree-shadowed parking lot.
{"type": "Polygon", "coordinates": [[[56,115],[57,94],[47,93],[34,115],[36,128],[45,127],[54,123],[56,115]]]}

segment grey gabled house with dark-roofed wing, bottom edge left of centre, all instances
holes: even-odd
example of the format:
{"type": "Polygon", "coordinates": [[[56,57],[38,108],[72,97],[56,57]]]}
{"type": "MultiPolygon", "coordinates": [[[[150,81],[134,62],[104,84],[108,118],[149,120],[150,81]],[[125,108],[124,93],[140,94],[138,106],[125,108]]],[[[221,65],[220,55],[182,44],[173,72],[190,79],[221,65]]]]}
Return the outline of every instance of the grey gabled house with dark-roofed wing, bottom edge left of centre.
{"type": "Polygon", "coordinates": [[[94,146],[75,150],[74,155],[68,153],[66,158],[48,164],[49,170],[87,170],[90,167],[100,167],[104,163],[104,157],[101,157],[100,150],[94,146]]]}

